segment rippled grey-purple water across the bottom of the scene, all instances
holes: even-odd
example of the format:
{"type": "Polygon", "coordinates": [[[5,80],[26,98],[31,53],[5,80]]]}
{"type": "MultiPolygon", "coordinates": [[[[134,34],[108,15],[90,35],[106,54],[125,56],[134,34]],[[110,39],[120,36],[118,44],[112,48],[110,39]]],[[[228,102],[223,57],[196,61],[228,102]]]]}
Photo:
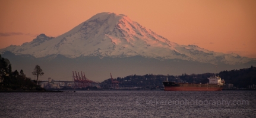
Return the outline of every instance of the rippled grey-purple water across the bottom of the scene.
{"type": "Polygon", "coordinates": [[[256,117],[256,91],[0,93],[0,117],[256,117]]]}

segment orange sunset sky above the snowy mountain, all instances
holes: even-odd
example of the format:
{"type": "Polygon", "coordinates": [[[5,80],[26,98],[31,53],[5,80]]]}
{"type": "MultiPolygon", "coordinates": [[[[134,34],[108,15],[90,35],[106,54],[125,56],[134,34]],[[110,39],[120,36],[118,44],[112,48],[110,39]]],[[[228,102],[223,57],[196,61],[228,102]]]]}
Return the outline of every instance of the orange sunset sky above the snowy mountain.
{"type": "Polygon", "coordinates": [[[5,1],[0,48],[57,37],[100,12],[125,14],[172,42],[256,58],[256,1],[5,1]]]}

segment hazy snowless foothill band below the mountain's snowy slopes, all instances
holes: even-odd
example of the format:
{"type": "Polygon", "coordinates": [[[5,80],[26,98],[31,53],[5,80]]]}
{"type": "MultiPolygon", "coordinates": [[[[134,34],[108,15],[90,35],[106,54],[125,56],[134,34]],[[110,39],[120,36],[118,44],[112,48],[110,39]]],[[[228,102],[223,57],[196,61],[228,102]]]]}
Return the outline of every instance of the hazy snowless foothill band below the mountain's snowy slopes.
{"type": "Polygon", "coordinates": [[[224,63],[213,65],[180,59],[161,61],[156,58],[141,57],[140,55],[122,58],[100,58],[99,56],[68,58],[58,54],[35,58],[31,55],[15,55],[6,51],[2,54],[2,57],[10,60],[12,70],[22,69],[27,77],[34,78],[31,72],[34,66],[38,64],[45,73],[44,76],[40,77],[40,80],[48,80],[48,77],[51,77],[54,80],[65,81],[72,81],[72,71],[83,71],[90,80],[103,81],[109,78],[109,73],[112,73],[113,77],[125,77],[131,74],[201,74],[218,73],[223,70],[241,69],[256,65],[253,62],[236,65],[224,63]]]}

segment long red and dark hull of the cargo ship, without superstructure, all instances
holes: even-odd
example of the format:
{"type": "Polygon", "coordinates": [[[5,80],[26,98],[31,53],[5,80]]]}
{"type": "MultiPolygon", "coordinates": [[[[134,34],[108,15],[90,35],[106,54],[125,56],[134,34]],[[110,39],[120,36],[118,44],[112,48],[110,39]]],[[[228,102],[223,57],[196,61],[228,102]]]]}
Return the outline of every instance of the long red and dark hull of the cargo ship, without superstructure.
{"type": "Polygon", "coordinates": [[[191,84],[163,82],[165,91],[221,91],[223,86],[217,84],[191,84]]]}

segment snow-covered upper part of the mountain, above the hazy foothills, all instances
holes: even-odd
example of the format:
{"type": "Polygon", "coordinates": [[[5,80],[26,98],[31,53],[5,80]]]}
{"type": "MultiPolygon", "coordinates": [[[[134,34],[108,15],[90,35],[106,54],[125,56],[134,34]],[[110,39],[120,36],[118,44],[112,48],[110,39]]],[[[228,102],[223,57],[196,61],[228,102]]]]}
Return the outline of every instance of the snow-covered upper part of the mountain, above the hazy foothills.
{"type": "Polygon", "coordinates": [[[23,45],[1,49],[14,54],[29,54],[36,58],[64,55],[68,58],[99,56],[181,59],[200,63],[242,64],[255,61],[237,54],[215,53],[197,45],[179,45],[157,35],[126,15],[103,12],[96,14],[77,27],[60,35],[47,37],[40,34],[23,45]]]}

